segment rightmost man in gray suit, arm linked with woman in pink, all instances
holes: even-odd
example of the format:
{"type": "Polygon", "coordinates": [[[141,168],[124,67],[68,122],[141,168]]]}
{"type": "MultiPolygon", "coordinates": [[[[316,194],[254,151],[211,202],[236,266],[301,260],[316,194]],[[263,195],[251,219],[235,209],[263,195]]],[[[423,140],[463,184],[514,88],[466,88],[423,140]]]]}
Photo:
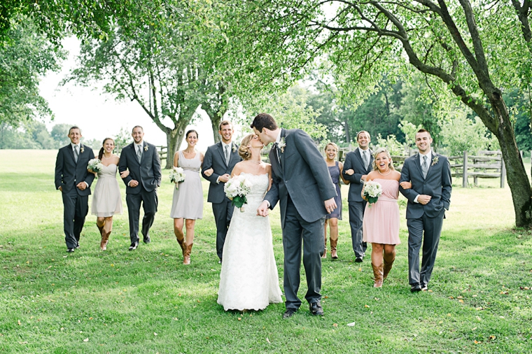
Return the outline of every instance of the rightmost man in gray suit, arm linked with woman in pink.
{"type": "Polygon", "coordinates": [[[408,282],[410,291],[427,290],[436,260],[445,211],[451,203],[451,165],[447,157],[433,153],[433,139],[425,129],[416,134],[419,153],[405,160],[400,183],[412,183],[400,192],[408,199],[408,282]],[[419,272],[419,250],[423,241],[423,260],[419,272]]]}

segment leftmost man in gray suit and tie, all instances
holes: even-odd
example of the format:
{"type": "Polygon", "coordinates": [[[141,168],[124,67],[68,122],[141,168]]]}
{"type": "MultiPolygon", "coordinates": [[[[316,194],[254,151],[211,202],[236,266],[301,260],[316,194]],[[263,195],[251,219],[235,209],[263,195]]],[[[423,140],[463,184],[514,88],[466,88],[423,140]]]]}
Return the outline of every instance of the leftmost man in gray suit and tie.
{"type": "Polygon", "coordinates": [[[89,211],[90,185],[94,174],[87,171],[89,160],[94,153],[88,146],[80,143],[81,130],[69,129],[70,143],[59,149],[55,160],[55,188],[62,192],[63,223],[66,252],[79,248],[79,239],[85,216],[89,211]]]}

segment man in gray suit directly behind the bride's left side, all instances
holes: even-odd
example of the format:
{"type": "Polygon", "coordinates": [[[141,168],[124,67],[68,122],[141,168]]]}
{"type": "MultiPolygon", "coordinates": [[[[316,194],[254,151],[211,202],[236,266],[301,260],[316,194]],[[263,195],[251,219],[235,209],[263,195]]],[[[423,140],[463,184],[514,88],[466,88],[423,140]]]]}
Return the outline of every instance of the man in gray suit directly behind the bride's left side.
{"type": "Polygon", "coordinates": [[[214,221],[216,222],[216,253],[222,262],[223,243],[228,234],[234,207],[228,197],[225,197],[223,186],[231,177],[235,164],[242,159],[238,155],[238,146],[232,142],[233,127],[228,120],[222,120],[218,125],[218,134],[222,141],[209,146],[203,158],[202,176],[209,180],[209,194],[207,201],[212,203],[214,221]],[[212,169],[212,173],[207,170],[212,169]]]}

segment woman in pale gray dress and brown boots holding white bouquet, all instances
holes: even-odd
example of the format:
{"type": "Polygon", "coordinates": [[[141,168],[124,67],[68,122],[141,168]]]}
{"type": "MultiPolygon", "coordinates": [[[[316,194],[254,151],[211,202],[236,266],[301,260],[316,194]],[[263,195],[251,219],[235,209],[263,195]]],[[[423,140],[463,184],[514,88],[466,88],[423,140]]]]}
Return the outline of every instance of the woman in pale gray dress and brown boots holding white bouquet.
{"type": "Polygon", "coordinates": [[[174,218],[174,234],[183,251],[183,264],[190,264],[194,225],[197,219],[203,218],[203,189],[200,179],[203,154],[195,150],[197,143],[195,130],[186,133],[186,141],[187,148],[177,151],[174,155],[174,167],[181,167],[185,171],[185,180],[176,183],[170,218],[174,218]],[[183,224],[186,227],[186,239],[183,234],[183,224]]]}

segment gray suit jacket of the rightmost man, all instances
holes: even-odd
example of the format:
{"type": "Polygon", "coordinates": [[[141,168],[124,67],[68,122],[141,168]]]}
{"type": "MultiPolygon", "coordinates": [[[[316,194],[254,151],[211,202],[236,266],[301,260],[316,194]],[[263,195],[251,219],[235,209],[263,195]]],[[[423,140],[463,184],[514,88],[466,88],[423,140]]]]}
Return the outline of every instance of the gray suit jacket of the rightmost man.
{"type": "Polygon", "coordinates": [[[399,182],[410,181],[412,188],[403,190],[399,187],[402,195],[408,199],[407,219],[417,219],[423,213],[429,218],[440,215],[443,208],[449,210],[451,204],[451,165],[447,157],[433,153],[433,160],[428,165],[426,178],[423,178],[419,153],[408,157],[401,170],[399,182]],[[426,204],[414,203],[418,194],[430,195],[432,199],[426,204]]]}

